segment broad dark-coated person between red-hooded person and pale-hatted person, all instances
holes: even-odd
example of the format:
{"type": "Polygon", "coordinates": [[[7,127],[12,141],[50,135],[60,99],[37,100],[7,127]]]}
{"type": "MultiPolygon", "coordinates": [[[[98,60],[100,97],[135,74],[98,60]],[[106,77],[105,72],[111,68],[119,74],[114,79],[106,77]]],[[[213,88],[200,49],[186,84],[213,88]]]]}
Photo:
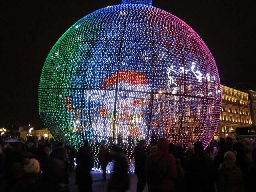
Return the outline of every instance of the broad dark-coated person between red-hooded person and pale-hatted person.
{"type": "Polygon", "coordinates": [[[195,154],[186,165],[186,184],[188,192],[214,192],[214,164],[204,153],[202,142],[194,143],[195,154]]]}

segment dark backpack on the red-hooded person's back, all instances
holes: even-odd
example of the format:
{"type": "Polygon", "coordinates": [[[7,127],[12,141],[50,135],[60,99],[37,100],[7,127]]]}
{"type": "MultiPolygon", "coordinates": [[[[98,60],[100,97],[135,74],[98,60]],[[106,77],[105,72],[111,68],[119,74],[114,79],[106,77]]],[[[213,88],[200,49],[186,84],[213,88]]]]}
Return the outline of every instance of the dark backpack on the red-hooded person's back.
{"type": "MultiPolygon", "coordinates": [[[[167,154],[167,153],[166,153],[167,154]]],[[[153,162],[152,156],[150,155],[151,164],[149,166],[149,179],[150,183],[154,185],[160,185],[164,182],[165,174],[161,171],[160,167],[158,166],[158,162],[166,155],[164,154],[157,162],[153,162]]]]}

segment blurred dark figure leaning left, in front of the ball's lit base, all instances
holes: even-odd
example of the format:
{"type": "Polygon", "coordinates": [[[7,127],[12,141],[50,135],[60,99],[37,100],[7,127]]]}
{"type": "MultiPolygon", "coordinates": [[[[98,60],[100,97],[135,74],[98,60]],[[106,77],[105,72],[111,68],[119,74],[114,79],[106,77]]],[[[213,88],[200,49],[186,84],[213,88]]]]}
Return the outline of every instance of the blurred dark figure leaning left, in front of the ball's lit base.
{"type": "Polygon", "coordinates": [[[108,192],[124,192],[129,188],[128,162],[121,148],[114,144],[110,151],[114,170],[108,184],[108,192]]]}

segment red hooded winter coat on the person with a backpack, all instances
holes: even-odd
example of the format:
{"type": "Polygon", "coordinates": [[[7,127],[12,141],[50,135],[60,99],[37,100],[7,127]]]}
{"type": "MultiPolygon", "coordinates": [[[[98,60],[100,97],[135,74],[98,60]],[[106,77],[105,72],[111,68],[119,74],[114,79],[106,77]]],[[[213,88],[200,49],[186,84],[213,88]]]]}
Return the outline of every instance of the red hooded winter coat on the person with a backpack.
{"type": "Polygon", "coordinates": [[[174,190],[174,180],[177,176],[176,160],[173,155],[168,154],[168,147],[168,141],[165,143],[165,141],[160,138],[157,143],[158,152],[151,154],[151,157],[148,156],[146,160],[145,172],[149,191],[174,190]],[[150,183],[149,168],[152,163],[156,163],[160,158],[162,159],[158,162],[158,167],[164,174],[164,182],[159,185],[154,185],[150,183]]]}

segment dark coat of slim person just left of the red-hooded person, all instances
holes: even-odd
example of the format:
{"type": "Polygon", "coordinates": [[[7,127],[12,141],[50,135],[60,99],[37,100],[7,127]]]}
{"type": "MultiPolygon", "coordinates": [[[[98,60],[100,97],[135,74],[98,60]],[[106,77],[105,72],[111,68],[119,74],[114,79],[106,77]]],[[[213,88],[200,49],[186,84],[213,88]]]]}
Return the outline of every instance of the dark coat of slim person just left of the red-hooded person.
{"type": "Polygon", "coordinates": [[[146,152],[143,146],[138,144],[134,149],[134,161],[135,161],[135,173],[137,175],[145,174],[145,164],[146,164],[146,152]]]}

